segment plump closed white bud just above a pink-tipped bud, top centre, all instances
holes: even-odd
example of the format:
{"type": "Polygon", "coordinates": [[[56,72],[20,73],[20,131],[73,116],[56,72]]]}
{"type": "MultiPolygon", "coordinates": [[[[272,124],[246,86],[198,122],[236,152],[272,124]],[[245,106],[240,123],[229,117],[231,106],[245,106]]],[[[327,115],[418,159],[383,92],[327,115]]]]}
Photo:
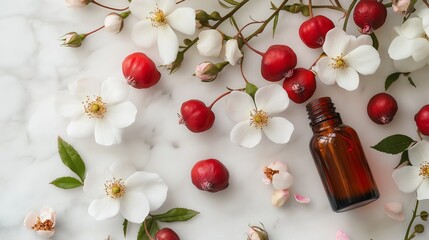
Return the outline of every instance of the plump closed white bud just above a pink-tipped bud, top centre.
{"type": "Polygon", "coordinates": [[[198,34],[197,49],[201,56],[219,57],[222,50],[223,36],[215,30],[209,29],[198,34]]]}

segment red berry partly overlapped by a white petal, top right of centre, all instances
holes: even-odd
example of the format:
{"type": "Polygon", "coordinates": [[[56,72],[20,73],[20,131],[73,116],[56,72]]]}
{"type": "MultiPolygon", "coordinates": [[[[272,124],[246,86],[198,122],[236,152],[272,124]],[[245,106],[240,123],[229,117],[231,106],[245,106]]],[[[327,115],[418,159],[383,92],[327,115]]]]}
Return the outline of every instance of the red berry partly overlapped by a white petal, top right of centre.
{"type": "Polygon", "coordinates": [[[325,16],[315,16],[303,22],[299,27],[299,37],[309,48],[320,48],[325,42],[326,33],[334,28],[331,19],[325,16]]]}

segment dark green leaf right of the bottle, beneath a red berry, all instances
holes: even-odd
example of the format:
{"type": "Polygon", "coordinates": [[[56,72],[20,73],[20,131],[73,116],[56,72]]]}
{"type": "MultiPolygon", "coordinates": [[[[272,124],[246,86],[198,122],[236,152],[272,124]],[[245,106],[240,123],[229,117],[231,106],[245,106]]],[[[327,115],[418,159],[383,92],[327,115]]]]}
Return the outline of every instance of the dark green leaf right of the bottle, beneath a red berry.
{"type": "Polygon", "coordinates": [[[395,134],[381,140],[381,142],[372,146],[372,148],[388,154],[398,154],[407,150],[414,143],[416,143],[416,141],[408,136],[395,134]]]}

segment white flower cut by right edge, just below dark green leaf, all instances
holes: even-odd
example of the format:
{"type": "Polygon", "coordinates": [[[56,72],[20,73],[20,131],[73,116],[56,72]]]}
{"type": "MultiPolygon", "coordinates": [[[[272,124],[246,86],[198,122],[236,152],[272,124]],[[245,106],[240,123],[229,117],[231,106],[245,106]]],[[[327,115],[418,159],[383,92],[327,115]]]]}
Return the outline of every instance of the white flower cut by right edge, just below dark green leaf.
{"type": "Polygon", "coordinates": [[[412,166],[396,169],[392,176],[399,190],[417,190],[417,200],[429,199],[429,142],[421,141],[408,150],[412,166]]]}

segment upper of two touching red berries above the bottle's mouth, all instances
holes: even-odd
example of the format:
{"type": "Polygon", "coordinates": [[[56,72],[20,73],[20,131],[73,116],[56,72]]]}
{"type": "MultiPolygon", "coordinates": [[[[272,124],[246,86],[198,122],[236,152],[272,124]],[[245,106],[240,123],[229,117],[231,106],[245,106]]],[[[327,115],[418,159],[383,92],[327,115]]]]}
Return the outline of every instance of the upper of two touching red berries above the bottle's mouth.
{"type": "Polygon", "coordinates": [[[261,74],[271,82],[282,80],[296,66],[296,54],[286,45],[272,45],[262,54],[261,74]]]}

